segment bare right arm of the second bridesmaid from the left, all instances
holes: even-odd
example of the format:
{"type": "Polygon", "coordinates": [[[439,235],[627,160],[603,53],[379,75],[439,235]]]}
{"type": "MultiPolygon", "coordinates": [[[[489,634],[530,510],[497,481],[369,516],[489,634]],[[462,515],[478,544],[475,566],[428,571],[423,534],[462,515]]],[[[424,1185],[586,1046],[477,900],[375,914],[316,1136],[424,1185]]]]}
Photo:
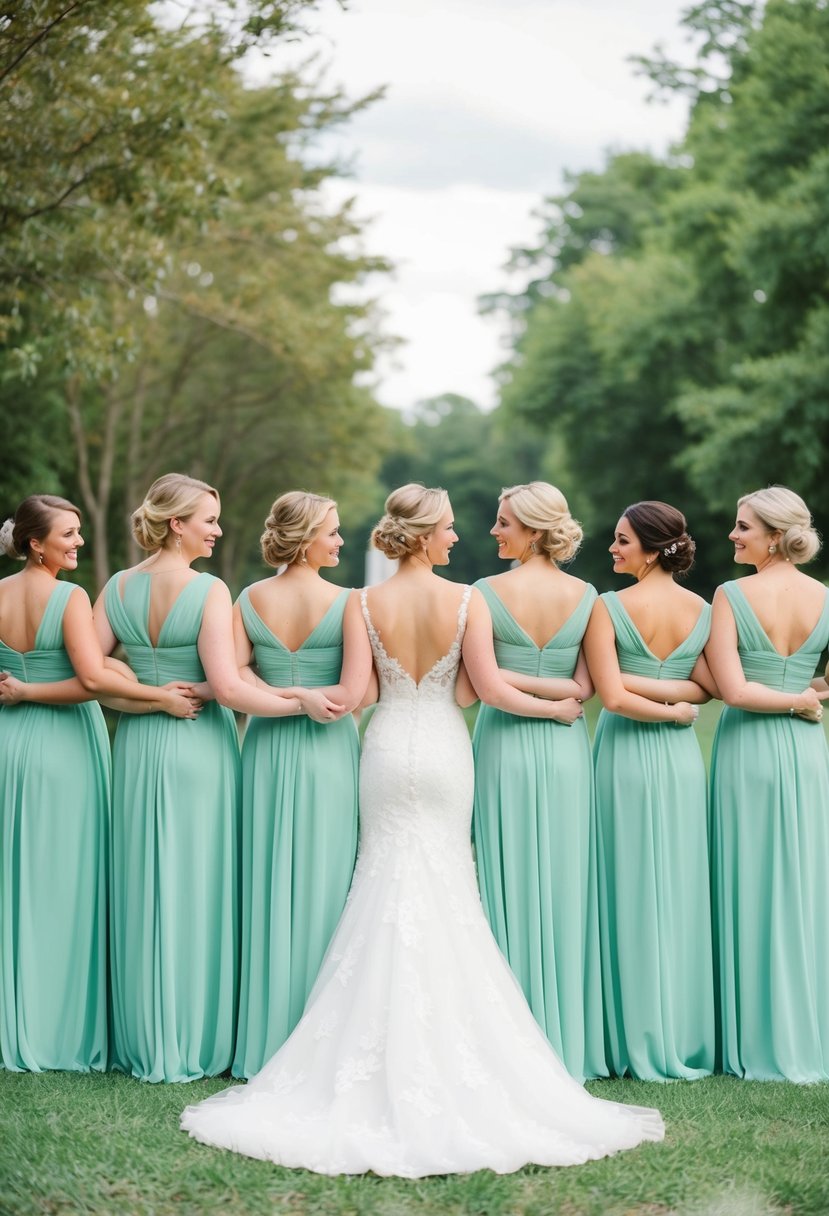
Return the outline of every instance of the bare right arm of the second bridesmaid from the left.
{"type": "Polygon", "coordinates": [[[236,662],[230,591],[219,580],[210,587],[204,604],[198,654],[213,694],[229,709],[258,717],[308,714],[323,722],[342,717],[345,711],[321,688],[273,688],[270,685],[259,688],[242,679],[236,662]]]}

